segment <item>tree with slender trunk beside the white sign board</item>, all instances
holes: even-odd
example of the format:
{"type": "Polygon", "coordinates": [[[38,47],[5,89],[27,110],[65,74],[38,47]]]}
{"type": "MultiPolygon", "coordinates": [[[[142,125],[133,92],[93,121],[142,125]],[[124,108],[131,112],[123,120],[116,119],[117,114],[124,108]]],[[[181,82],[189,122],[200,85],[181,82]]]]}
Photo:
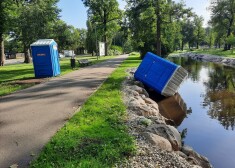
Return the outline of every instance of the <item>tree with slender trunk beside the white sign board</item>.
{"type": "Polygon", "coordinates": [[[82,0],[88,7],[88,15],[92,23],[98,23],[103,28],[105,55],[108,55],[109,25],[121,19],[122,13],[116,0],[82,0]]]}

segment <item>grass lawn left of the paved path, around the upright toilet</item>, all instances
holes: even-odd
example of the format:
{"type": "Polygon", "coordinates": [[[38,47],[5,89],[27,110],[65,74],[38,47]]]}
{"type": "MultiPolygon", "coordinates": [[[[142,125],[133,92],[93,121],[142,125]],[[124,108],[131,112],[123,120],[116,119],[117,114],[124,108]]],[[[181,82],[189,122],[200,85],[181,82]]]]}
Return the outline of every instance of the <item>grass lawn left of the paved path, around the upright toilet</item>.
{"type": "MultiPolygon", "coordinates": [[[[114,56],[106,56],[100,57],[99,60],[96,59],[95,56],[77,56],[77,59],[89,59],[92,64],[96,64],[102,62],[104,60],[114,58],[114,56]]],[[[76,62],[77,64],[77,62],[76,62]]],[[[70,58],[63,58],[60,60],[61,66],[61,75],[67,74],[73,71],[70,67],[70,58]]],[[[75,70],[79,69],[78,65],[75,70]]],[[[34,78],[34,69],[33,64],[16,64],[16,65],[6,65],[4,67],[0,67],[0,96],[4,96],[15,92],[17,90],[21,90],[30,86],[35,85],[31,84],[16,84],[17,80],[24,79],[33,79],[34,78]]]]}

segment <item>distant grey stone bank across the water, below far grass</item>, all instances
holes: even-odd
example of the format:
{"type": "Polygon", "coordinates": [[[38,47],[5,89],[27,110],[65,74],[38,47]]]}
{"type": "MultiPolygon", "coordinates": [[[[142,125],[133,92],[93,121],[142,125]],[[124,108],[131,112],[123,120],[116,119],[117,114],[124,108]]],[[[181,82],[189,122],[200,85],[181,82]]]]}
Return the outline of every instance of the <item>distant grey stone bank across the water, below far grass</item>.
{"type": "Polygon", "coordinates": [[[195,60],[205,61],[205,62],[214,62],[218,64],[223,64],[227,66],[235,67],[235,58],[226,58],[216,55],[209,55],[209,54],[197,54],[197,53],[183,53],[180,54],[183,57],[190,57],[195,60]]]}

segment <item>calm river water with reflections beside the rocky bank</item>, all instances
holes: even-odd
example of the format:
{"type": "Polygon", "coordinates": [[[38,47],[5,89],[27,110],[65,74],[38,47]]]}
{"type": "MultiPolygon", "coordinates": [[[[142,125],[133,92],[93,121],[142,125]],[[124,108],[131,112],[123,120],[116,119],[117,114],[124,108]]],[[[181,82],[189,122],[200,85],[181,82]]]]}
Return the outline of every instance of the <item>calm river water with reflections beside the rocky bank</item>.
{"type": "Polygon", "coordinates": [[[188,78],[179,94],[158,100],[160,111],[182,132],[183,142],[215,168],[235,168],[235,69],[189,58],[170,58],[188,78]]]}

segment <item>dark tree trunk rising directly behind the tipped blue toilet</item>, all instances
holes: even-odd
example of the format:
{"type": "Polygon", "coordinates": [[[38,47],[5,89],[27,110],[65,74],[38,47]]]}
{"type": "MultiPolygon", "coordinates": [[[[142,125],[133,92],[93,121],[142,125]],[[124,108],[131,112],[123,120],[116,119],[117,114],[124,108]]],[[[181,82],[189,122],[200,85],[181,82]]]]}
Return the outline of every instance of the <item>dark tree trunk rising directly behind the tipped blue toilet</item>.
{"type": "Polygon", "coordinates": [[[157,15],[157,55],[161,56],[161,15],[159,8],[159,0],[157,0],[156,4],[156,15],[157,15]]]}

